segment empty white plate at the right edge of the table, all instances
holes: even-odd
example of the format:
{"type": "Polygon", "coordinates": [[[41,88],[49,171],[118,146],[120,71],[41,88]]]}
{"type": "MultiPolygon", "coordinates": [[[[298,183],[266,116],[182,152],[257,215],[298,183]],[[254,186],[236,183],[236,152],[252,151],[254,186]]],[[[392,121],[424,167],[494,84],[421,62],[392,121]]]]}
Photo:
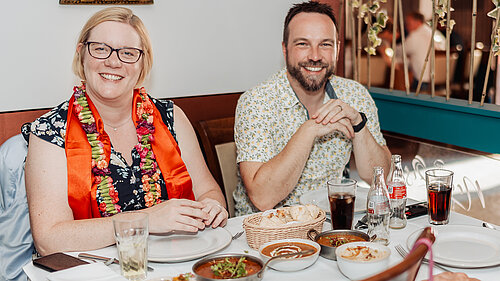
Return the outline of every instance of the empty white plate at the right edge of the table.
{"type": "MultiPolygon", "coordinates": [[[[436,241],[432,246],[434,261],[459,268],[479,268],[500,264],[500,231],[469,225],[434,227],[436,241]]],[[[412,233],[406,242],[410,249],[422,229],[412,233]]]]}

